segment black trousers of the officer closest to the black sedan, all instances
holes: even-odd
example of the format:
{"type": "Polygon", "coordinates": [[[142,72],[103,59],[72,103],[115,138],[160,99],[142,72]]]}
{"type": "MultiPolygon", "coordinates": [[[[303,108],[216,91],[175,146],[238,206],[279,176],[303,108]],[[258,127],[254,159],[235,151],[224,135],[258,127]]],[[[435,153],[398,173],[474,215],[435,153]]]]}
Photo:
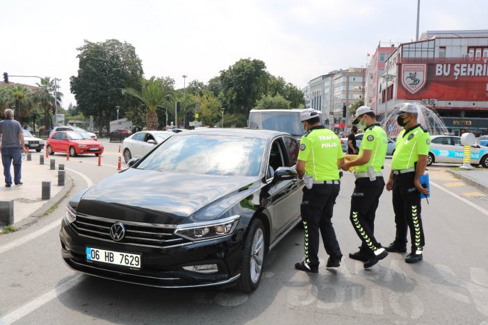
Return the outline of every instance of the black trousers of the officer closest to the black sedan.
{"type": "Polygon", "coordinates": [[[305,231],[305,261],[308,265],[318,266],[319,264],[319,230],[327,254],[334,258],[342,257],[336,232],[332,226],[334,204],[340,189],[339,184],[314,184],[311,189],[303,188],[300,212],[305,231]]]}

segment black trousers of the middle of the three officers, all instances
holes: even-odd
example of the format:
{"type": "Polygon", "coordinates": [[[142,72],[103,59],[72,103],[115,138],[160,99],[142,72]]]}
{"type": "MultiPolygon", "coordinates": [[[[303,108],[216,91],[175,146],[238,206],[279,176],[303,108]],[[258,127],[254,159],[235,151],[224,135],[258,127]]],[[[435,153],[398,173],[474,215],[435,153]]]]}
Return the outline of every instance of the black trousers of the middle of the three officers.
{"type": "Polygon", "coordinates": [[[383,177],[376,177],[375,181],[363,177],[357,178],[352,192],[349,218],[362,242],[360,251],[364,253],[373,253],[380,247],[374,233],[376,209],[383,189],[383,177]]]}

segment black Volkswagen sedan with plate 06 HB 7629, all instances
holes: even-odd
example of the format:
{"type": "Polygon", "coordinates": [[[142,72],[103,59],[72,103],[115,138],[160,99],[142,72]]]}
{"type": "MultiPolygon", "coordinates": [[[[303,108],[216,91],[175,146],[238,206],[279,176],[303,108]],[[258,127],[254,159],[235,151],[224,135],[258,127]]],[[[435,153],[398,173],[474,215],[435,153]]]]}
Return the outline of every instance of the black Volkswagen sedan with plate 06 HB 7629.
{"type": "Polygon", "coordinates": [[[177,133],[70,199],[63,258],[128,283],[252,292],[266,253],[300,222],[298,146],[277,131],[177,133]]]}

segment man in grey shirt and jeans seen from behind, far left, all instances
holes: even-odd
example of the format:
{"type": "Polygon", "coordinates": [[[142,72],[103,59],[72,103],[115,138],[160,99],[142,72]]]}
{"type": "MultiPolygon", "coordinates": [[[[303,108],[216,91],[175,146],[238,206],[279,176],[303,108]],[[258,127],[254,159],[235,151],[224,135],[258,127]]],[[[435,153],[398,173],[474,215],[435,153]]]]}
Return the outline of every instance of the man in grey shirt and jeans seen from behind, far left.
{"type": "Polygon", "coordinates": [[[5,186],[10,188],[12,176],[10,176],[10,165],[14,166],[14,183],[22,185],[22,151],[28,152],[24,146],[24,134],[22,126],[13,119],[13,110],[7,108],[3,115],[5,119],[0,121],[1,136],[1,163],[3,164],[3,176],[5,176],[5,186]]]}

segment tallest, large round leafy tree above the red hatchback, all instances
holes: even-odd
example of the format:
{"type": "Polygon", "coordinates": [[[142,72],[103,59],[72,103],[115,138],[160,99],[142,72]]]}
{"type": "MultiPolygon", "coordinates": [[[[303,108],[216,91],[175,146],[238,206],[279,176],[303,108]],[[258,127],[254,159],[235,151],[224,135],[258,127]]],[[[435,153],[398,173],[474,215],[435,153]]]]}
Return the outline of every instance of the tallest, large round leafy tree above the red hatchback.
{"type": "Polygon", "coordinates": [[[122,89],[142,89],[142,62],[131,44],[118,40],[85,40],[77,50],[78,75],[70,78],[70,90],[79,111],[95,115],[100,130],[104,125],[108,129],[111,115],[116,115],[115,106],[120,106],[123,116],[125,110],[139,105],[135,98],[122,94],[122,89]]]}

